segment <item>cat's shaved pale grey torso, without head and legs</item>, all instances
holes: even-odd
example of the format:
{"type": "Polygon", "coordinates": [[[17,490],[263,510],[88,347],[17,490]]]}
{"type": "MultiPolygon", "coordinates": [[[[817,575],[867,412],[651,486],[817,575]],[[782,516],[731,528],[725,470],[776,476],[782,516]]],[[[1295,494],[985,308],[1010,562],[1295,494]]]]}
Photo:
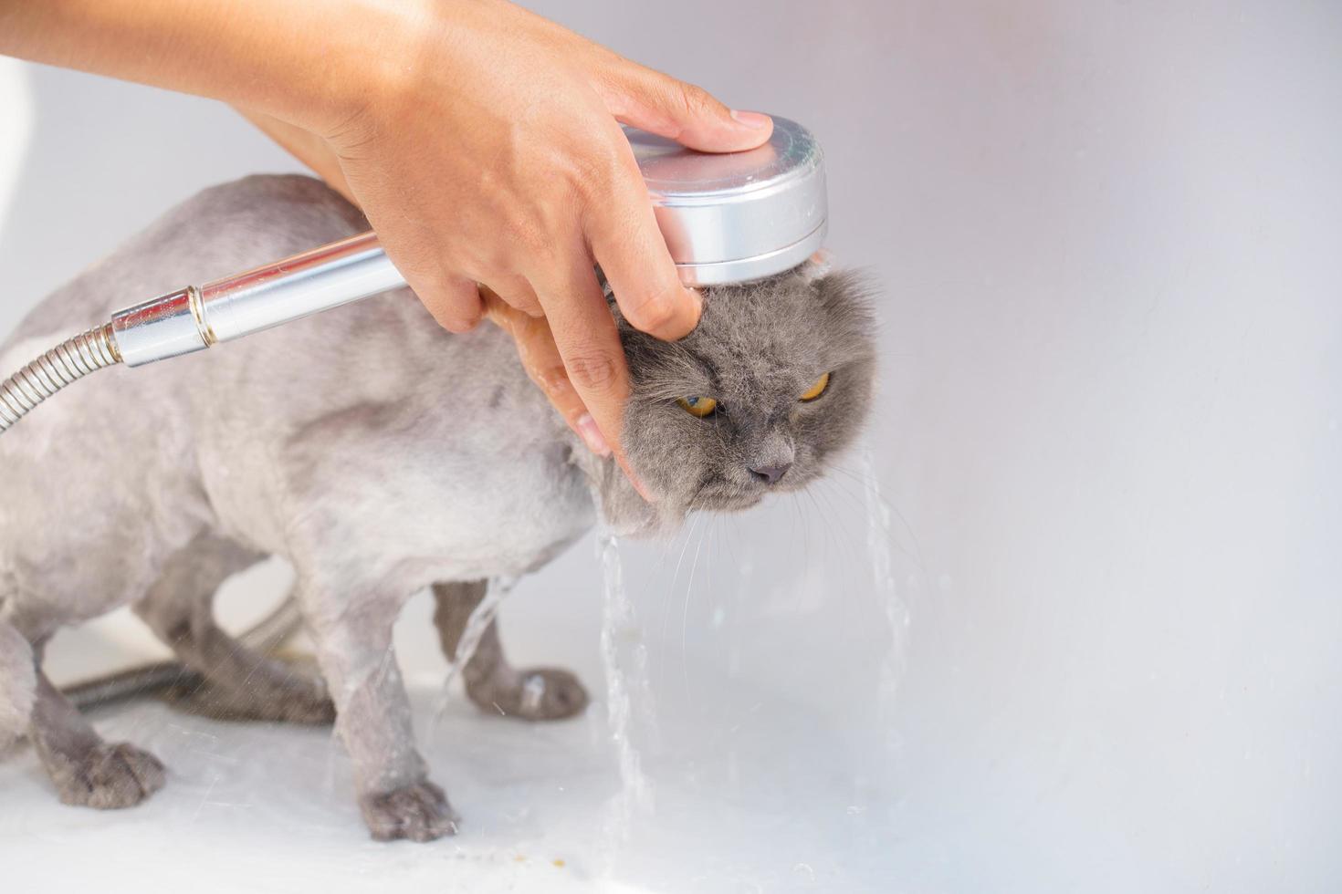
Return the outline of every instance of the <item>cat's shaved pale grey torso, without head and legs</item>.
{"type": "MultiPolygon", "coordinates": [[[[366,228],[307,177],[207,189],[52,294],[0,355],[17,369],[121,307],[366,228]]],[[[365,543],[404,552],[450,540],[479,564],[498,559],[486,540],[521,515],[517,560],[585,515],[566,450],[562,422],[502,332],[452,336],[400,290],[195,355],[102,370],[60,393],[0,437],[0,461],[20,483],[0,527],[25,552],[58,539],[27,543],[35,517],[89,539],[83,547],[109,531],[142,543],[221,524],[282,551],[295,516],[329,509],[365,543]],[[405,527],[391,520],[408,513],[420,516],[415,531],[437,524],[442,536],[369,537],[405,527]]]]}

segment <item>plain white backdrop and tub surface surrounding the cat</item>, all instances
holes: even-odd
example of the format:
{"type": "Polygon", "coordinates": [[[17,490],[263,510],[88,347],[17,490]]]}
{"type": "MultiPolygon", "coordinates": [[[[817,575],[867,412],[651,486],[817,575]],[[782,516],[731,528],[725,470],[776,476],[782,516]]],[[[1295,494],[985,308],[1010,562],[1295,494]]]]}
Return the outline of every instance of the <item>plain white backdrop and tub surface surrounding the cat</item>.
{"type": "MultiPolygon", "coordinates": [[[[11,871],[235,890],[311,890],[313,874],[327,890],[1337,890],[1342,12],[535,8],[820,135],[831,248],[883,290],[870,441],[907,630],[874,583],[854,456],[815,500],[625,550],[658,732],[639,730],[656,802],[624,850],[593,843],[616,785],[600,704],[538,730],[454,701],[427,753],[466,826],[417,848],[364,842],[325,735],[145,705],[99,720],[173,768],[137,811],[59,807],[30,753],[0,764],[11,871]],[[71,847],[86,858],[63,862],[71,847]]],[[[0,332],[196,189],[291,169],[213,103],[0,67],[0,332]]],[[[503,623],[517,657],[577,667],[600,702],[592,555],[525,582],[503,623]]],[[[282,576],[232,586],[225,617],[282,576]]],[[[427,728],[443,665],[423,599],[400,633],[427,728]]],[[[141,642],[102,622],[51,663],[68,677],[141,642]]]]}

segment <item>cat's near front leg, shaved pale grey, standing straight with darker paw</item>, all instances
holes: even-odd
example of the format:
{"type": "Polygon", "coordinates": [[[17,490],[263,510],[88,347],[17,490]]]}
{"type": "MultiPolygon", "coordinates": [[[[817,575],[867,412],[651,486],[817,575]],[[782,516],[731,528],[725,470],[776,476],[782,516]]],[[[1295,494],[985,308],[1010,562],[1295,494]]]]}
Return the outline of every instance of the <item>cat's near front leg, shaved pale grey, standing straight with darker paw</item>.
{"type": "Polygon", "coordinates": [[[336,702],[336,730],[354,764],[358,806],[373,838],[429,842],[458,816],[415,749],[411,705],[392,647],[403,594],[305,576],[299,603],[336,702]]]}

